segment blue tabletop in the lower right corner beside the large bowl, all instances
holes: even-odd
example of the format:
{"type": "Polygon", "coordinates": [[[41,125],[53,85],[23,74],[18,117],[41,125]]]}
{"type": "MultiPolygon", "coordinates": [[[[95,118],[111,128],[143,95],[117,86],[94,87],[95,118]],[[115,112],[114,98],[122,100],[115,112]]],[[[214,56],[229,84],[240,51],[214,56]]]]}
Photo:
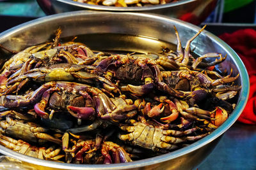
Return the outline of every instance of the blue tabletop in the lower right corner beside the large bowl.
{"type": "Polygon", "coordinates": [[[198,170],[256,169],[256,125],[235,123],[198,170]]]}

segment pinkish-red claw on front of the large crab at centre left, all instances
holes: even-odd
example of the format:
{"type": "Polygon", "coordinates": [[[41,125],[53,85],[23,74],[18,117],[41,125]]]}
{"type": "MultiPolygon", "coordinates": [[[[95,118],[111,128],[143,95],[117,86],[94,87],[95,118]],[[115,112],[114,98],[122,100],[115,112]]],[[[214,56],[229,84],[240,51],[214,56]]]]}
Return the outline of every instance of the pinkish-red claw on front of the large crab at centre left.
{"type": "Polygon", "coordinates": [[[90,107],[67,106],[67,110],[73,117],[81,119],[93,119],[96,115],[95,110],[90,107]]]}

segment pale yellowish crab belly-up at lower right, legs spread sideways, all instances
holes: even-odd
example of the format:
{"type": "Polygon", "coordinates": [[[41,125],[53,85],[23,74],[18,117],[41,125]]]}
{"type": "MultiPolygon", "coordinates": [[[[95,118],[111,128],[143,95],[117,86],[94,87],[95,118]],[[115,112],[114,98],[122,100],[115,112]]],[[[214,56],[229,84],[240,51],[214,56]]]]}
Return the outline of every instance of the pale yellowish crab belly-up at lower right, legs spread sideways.
{"type": "Polygon", "coordinates": [[[118,138],[131,145],[147,148],[154,152],[170,152],[171,150],[180,148],[180,143],[195,141],[209,134],[207,132],[196,136],[188,136],[192,132],[197,131],[196,127],[186,131],[174,131],[150,124],[143,119],[141,122],[130,120],[129,123],[132,125],[120,126],[122,130],[129,132],[129,134],[119,134],[118,138]]]}

